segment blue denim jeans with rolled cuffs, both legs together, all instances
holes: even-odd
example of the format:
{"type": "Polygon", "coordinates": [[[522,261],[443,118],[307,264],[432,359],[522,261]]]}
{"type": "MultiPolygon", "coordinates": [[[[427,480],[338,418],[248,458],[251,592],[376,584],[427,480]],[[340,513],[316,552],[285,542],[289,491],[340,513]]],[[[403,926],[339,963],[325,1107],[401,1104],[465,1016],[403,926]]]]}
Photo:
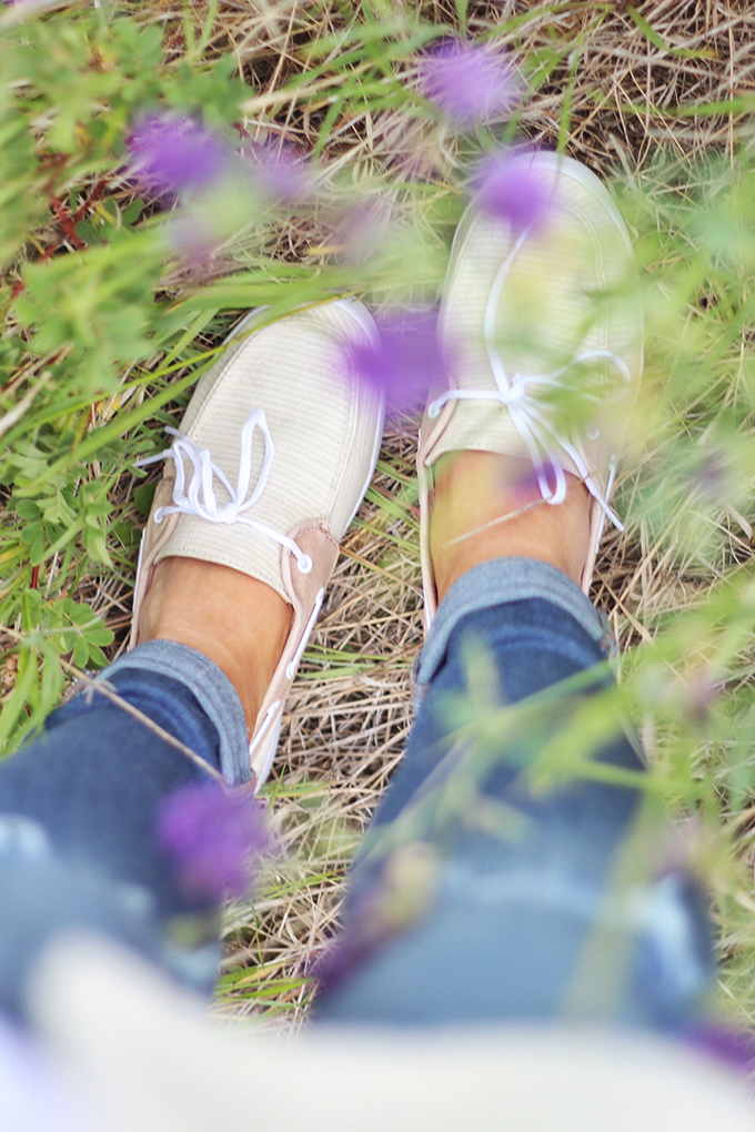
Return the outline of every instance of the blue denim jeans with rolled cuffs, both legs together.
{"type": "MultiPolygon", "coordinates": [[[[316,1018],[568,1015],[672,1030],[698,1009],[713,975],[704,903],[652,859],[663,820],[635,743],[610,721],[580,764],[607,773],[559,779],[561,738],[575,749],[581,712],[610,687],[603,637],[578,588],[542,563],[495,559],[452,588],[417,666],[405,757],[320,968],[316,1018]]],[[[213,983],[212,927],[187,946],[172,926],[212,925],[217,904],[177,885],[155,822],[171,791],[208,777],[203,763],[233,784],[249,778],[239,698],[209,660],[166,641],[100,680],[135,712],[84,692],[0,765],[0,1009],[11,1014],[23,1017],[41,947],[71,926],[213,983]]]]}

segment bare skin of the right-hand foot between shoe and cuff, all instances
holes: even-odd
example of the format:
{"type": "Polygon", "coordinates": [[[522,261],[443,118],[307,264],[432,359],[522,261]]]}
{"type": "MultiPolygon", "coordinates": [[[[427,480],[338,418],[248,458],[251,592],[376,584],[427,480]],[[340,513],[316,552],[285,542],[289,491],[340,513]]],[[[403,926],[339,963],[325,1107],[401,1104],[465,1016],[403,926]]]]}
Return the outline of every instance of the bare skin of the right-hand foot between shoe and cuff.
{"type": "Polygon", "coordinates": [[[453,452],[438,461],[430,554],[438,601],[462,574],[490,558],[537,558],[577,585],[590,544],[590,494],[567,473],[566,499],[546,503],[527,461],[453,452]]]}

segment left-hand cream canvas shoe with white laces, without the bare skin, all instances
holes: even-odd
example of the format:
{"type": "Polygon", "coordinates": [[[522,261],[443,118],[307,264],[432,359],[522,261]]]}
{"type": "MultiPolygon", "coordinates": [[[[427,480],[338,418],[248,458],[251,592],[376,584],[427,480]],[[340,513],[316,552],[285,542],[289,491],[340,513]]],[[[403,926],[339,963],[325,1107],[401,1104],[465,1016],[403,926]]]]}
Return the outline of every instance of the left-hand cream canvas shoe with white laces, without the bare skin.
{"type": "Polygon", "coordinates": [[[276,590],[291,631],[249,757],[269,771],[285,698],[345,534],[375,471],[381,400],[351,379],[348,349],[374,342],[361,303],[338,299],[255,328],[252,311],[200,379],[166,457],[141,540],[130,645],[155,566],[177,555],[230,566],[276,590]]]}

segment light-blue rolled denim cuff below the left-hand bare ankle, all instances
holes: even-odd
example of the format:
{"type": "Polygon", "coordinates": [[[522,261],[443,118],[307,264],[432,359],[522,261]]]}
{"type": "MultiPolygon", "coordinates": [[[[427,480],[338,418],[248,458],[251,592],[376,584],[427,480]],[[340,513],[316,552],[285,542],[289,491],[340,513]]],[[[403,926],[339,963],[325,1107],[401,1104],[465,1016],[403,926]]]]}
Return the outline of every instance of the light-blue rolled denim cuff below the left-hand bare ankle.
{"type": "Polygon", "coordinates": [[[180,680],[217,730],[220,766],[225,780],[231,786],[249,781],[249,741],[241,701],[225,672],[214,661],[177,641],[145,641],[119,657],[97,680],[110,680],[121,669],[156,672],[180,680]]]}

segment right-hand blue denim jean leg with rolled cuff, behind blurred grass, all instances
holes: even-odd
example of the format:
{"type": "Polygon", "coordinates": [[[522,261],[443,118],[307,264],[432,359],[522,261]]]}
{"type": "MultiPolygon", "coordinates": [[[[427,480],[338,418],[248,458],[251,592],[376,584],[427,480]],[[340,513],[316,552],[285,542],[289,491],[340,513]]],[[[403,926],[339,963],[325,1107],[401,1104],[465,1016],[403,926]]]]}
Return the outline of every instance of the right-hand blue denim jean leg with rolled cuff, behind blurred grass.
{"type": "Polygon", "coordinates": [[[526,777],[611,686],[607,652],[593,607],[547,564],[494,559],[452,586],[418,664],[404,761],[321,968],[321,1021],[672,1030],[700,1006],[713,975],[700,893],[634,859],[649,822],[636,741],[617,720],[591,752],[629,784],[538,790],[526,777]],[[498,730],[470,741],[491,712],[498,730]]]}

